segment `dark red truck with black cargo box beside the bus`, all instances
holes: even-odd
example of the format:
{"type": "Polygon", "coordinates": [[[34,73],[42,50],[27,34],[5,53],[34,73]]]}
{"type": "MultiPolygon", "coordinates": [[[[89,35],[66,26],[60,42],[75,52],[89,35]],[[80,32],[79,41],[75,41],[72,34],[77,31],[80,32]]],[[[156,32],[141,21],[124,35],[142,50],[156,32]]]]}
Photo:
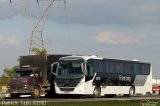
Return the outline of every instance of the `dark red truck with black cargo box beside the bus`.
{"type": "Polygon", "coordinates": [[[33,98],[38,98],[43,93],[54,95],[54,76],[50,71],[51,64],[64,56],[67,55],[20,56],[20,68],[16,70],[13,79],[8,84],[8,93],[13,98],[26,94],[31,94],[33,98]]]}

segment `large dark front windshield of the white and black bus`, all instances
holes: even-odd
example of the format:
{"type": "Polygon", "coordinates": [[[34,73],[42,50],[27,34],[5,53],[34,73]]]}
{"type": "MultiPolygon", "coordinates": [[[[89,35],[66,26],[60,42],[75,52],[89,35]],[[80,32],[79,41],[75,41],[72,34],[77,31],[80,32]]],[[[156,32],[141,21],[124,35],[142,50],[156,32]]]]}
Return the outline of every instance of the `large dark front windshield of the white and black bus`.
{"type": "Polygon", "coordinates": [[[56,68],[56,78],[58,79],[78,79],[84,76],[81,64],[83,61],[60,61],[56,68]]]}

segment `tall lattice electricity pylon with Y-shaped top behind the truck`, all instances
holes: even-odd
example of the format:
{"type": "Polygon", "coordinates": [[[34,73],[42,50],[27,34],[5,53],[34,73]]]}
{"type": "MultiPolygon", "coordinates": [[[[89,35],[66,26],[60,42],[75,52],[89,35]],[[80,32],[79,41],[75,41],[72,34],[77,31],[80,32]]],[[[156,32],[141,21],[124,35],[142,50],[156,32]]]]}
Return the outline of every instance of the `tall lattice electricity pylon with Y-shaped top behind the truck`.
{"type": "MultiPolygon", "coordinates": [[[[39,0],[36,0],[39,4],[39,0]]],[[[48,18],[49,12],[53,7],[53,3],[55,1],[64,1],[66,6],[66,0],[43,0],[49,2],[48,7],[45,9],[44,13],[41,15],[38,21],[34,18],[32,12],[30,9],[27,8],[26,0],[22,0],[24,9],[30,18],[30,21],[32,23],[32,32],[31,32],[31,38],[30,38],[30,45],[29,45],[29,55],[31,55],[33,48],[39,48],[44,49],[44,40],[43,40],[43,27],[46,23],[46,20],[48,18]],[[35,23],[36,22],[36,23],[35,23]]],[[[12,3],[12,0],[10,0],[10,3],[12,3]]]]}

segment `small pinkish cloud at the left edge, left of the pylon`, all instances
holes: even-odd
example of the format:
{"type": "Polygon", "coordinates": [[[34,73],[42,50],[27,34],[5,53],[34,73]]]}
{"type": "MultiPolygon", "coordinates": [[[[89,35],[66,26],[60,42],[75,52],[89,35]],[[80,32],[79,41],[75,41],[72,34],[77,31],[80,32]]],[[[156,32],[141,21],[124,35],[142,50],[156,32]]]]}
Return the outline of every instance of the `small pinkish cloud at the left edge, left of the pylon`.
{"type": "Polygon", "coordinates": [[[19,44],[20,44],[20,41],[16,36],[10,36],[10,37],[0,36],[0,45],[18,46],[19,44]]]}

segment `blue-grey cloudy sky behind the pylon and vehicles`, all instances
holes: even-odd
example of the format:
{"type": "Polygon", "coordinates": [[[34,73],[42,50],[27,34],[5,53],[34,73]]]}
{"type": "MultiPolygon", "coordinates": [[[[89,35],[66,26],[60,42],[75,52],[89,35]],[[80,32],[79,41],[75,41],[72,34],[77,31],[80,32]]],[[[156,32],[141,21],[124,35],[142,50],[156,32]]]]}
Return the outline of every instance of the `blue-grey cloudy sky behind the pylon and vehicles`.
{"type": "MultiPolygon", "coordinates": [[[[48,0],[0,0],[0,74],[28,55],[33,25],[48,0]],[[25,2],[24,2],[25,1],[25,2]],[[32,13],[27,15],[25,7],[32,13]]],[[[152,64],[160,78],[159,0],[55,1],[43,28],[49,54],[98,55],[152,64]]]]}

